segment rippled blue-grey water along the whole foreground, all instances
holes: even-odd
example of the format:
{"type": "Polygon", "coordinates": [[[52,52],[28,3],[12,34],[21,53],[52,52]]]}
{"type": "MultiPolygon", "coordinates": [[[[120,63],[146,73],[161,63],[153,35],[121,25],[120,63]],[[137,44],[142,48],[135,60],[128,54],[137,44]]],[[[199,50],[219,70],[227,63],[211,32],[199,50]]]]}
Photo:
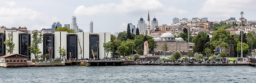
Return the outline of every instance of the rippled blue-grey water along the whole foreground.
{"type": "Polygon", "coordinates": [[[255,83],[251,66],[60,66],[0,67],[0,82],[255,83]]]}

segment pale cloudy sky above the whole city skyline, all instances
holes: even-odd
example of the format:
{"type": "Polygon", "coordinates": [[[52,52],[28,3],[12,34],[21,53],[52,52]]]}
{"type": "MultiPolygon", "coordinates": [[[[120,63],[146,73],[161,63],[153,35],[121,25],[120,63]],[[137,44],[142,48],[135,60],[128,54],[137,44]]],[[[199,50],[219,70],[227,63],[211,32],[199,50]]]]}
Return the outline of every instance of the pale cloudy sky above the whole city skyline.
{"type": "Polygon", "coordinates": [[[123,32],[128,23],[138,24],[142,16],[147,23],[154,16],[159,25],[170,25],[173,18],[208,17],[208,21],[243,17],[256,20],[256,0],[0,0],[0,26],[26,26],[28,30],[51,28],[53,22],[71,24],[76,17],[80,29],[89,32],[123,32]]]}

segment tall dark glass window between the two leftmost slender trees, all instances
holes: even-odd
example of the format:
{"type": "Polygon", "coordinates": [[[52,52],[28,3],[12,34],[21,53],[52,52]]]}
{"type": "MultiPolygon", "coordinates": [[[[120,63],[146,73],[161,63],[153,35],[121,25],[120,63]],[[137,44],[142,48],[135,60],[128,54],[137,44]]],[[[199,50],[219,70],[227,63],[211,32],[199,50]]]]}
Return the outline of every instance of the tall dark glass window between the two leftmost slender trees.
{"type": "Polygon", "coordinates": [[[21,54],[22,55],[28,55],[27,54],[27,49],[28,49],[28,47],[27,47],[27,35],[22,35],[22,41],[21,41],[21,54]]]}

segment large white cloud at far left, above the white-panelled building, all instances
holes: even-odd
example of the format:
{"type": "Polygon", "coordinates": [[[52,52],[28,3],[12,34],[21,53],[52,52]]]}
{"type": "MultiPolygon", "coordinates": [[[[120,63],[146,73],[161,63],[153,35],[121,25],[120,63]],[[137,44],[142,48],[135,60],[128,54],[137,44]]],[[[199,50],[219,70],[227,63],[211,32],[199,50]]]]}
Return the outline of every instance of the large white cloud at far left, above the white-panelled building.
{"type": "MultiPolygon", "coordinates": [[[[0,11],[3,12],[0,13],[1,25],[6,26],[7,28],[26,26],[29,30],[41,30],[42,28],[49,28],[47,26],[39,26],[50,24],[50,17],[44,13],[37,12],[26,7],[16,7],[16,3],[13,1],[6,3],[8,3],[8,5],[0,7],[0,11]]],[[[53,18],[56,19],[56,17],[53,18]]]]}

